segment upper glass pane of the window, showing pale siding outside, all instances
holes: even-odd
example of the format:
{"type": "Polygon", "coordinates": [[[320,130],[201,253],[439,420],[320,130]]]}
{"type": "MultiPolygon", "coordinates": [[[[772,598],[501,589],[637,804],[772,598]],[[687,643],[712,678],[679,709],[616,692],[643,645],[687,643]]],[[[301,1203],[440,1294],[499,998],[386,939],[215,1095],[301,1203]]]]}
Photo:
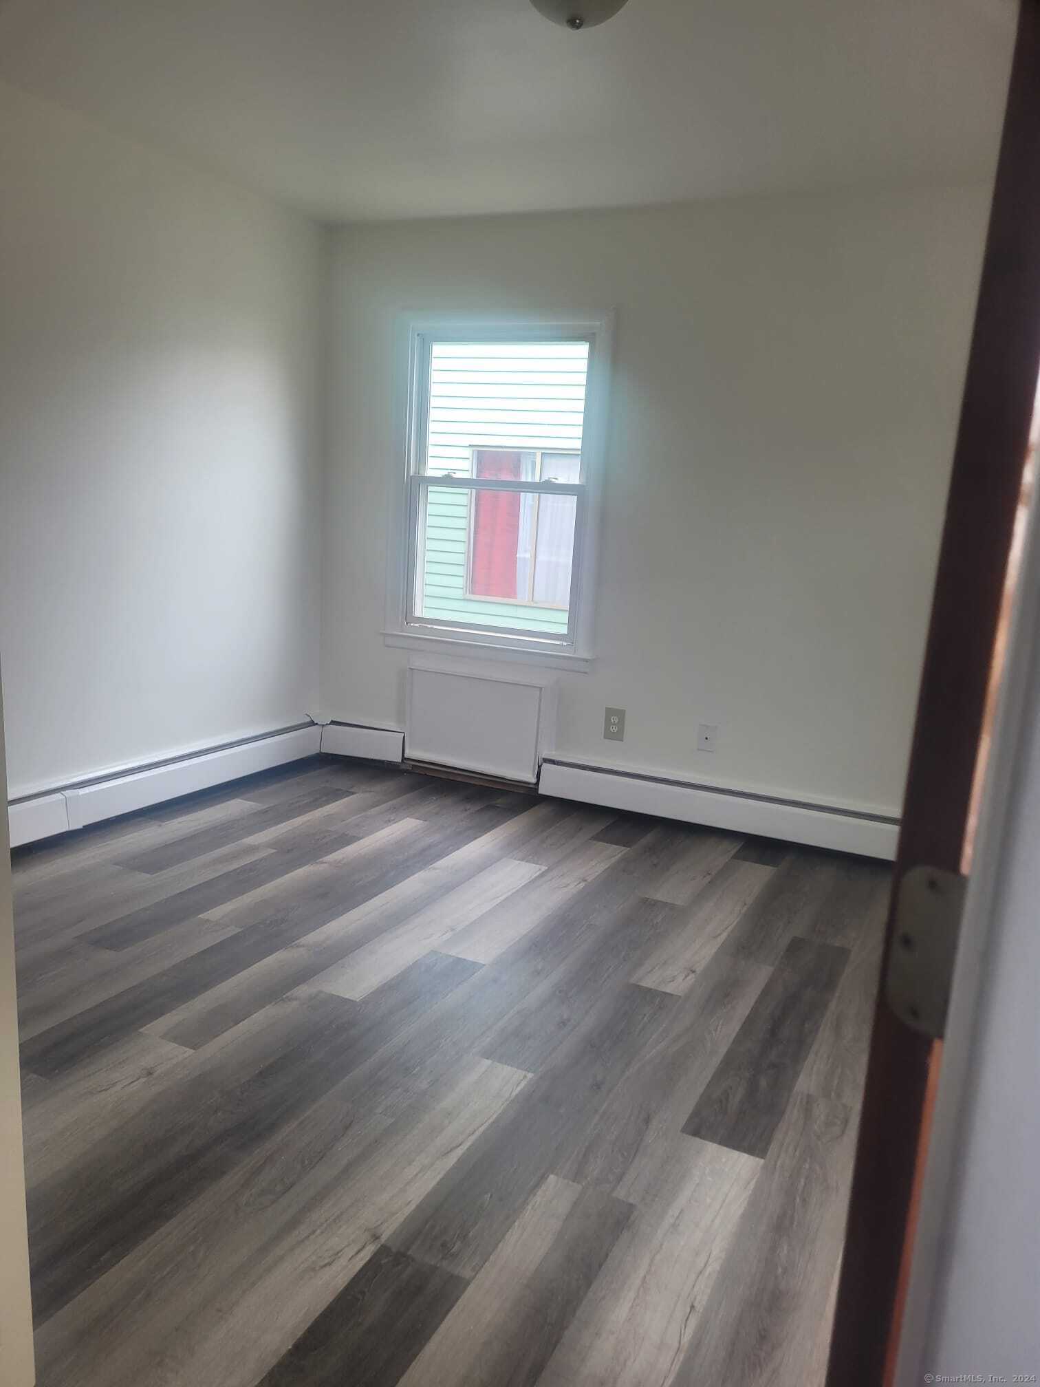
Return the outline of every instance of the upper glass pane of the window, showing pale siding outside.
{"type": "Polygon", "coordinates": [[[580,455],[587,374],[584,341],[431,343],[423,469],[483,476],[481,452],[513,452],[534,480],[537,452],[580,455]]]}

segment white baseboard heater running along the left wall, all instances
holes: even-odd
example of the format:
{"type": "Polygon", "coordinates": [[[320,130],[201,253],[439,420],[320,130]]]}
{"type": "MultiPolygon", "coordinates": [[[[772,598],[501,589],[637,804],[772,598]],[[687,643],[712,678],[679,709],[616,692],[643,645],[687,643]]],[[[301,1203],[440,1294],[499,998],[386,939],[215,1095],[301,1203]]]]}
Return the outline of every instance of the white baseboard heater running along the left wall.
{"type": "Polygon", "coordinates": [[[33,795],[8,806],[11,846],[33,843],[69,828],[85,828],[104,818],[129,814],[135,809],[147,809],[193,791],[209,789],[255,771],[316,756],[320,746],[322,728],[318,724],[297,727],[158,766],[146,766],[129,774],[93,782],[85,779],[53,793],[33,795]]]}

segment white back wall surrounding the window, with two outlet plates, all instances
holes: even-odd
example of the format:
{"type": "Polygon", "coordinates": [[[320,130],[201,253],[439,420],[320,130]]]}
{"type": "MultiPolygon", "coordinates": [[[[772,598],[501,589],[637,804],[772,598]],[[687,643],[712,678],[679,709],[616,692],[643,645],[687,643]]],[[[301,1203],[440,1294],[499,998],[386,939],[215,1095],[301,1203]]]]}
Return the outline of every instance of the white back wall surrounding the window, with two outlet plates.
{"type": "Polygon", "coordinates": [[[395,318],[614,307],[598,659],[560,674],[556,755],[896,813],[987,205],[928,187],[337,233],[324,712],[404,718],[406,653],[380,635],[395,318]]]}

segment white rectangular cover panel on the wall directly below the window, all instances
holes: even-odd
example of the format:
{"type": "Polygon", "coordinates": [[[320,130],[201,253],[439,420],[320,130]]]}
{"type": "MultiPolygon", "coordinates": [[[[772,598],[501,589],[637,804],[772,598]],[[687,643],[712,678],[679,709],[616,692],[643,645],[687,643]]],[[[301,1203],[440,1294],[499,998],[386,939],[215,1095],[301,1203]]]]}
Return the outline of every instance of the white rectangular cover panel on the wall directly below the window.
{"type": "Polygon", "coordinates": [[[532,785],[555,732],[552,674],[477,660],[409,660],[408,760],[532,785]]]}

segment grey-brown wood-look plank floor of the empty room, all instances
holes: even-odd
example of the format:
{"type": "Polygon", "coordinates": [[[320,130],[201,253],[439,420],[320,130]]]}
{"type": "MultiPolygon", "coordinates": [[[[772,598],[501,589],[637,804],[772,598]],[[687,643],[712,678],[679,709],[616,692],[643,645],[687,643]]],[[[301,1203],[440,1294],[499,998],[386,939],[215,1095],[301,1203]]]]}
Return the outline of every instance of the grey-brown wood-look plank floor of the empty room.
{"type": "Polygon", "coordinates": [[[813,1387],[885,865],[315,757],[14,854],[40,1387],[813,1387]]]}

